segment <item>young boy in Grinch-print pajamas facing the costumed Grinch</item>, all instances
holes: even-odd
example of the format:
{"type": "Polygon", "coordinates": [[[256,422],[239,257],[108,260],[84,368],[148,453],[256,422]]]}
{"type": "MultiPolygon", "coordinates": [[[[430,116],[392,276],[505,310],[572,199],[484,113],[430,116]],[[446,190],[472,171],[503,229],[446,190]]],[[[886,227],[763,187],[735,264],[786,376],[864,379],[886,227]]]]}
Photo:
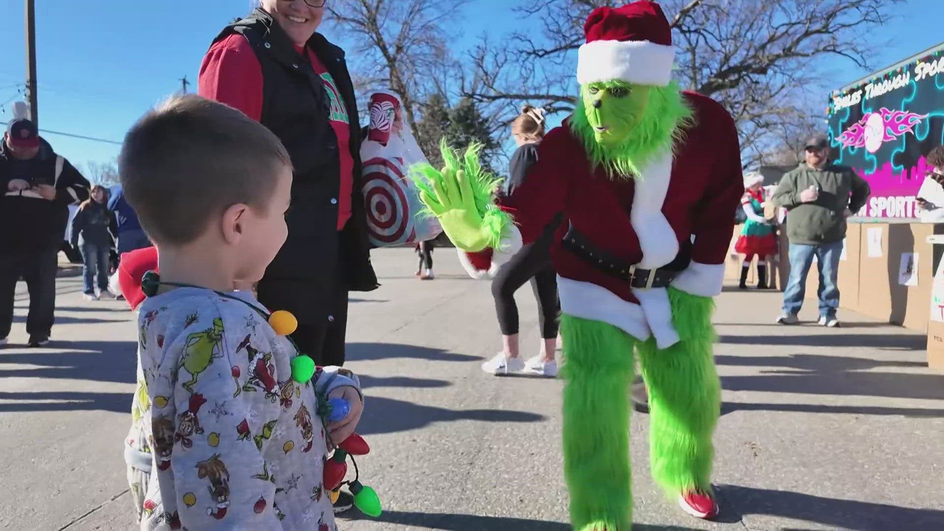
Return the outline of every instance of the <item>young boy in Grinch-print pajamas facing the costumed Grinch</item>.
{"type": "Polygon", "coordinates": [[[119,163],[160,257],[126,441],[141,528],[336,529],[323,466],[360,420],[358,379],[318,368],[297,383],[299,353],[246,289],[285,241],[284,147],[240,111],[177,96],[131,128],[119,163]],[[328,398],[350,404],[344,420],[322,423],[328,398]]]}

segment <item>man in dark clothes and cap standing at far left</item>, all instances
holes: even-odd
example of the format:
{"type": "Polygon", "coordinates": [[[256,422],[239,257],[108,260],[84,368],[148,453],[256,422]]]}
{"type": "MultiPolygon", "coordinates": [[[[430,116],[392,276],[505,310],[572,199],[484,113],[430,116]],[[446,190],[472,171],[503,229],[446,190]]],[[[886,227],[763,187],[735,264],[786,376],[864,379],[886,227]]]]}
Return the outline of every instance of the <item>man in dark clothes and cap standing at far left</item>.
{"type": "Polygon", "coordinates": [[[29,289],[28,345],[49,342],[68,205],[88,197],[88,188],[89,181],[53,152],[35,124],[25,118],[9,122],[0,142],[0,348],[8,343],[20,278],[29,289]]]}

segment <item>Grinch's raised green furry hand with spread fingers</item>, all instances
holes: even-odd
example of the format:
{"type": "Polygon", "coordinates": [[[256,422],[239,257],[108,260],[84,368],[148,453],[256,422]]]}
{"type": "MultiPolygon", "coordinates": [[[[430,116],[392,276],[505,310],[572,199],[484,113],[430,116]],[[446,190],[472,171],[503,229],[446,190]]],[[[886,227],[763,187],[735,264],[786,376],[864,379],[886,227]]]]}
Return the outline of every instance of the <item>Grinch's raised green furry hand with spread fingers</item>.
{"type": "Polygon", "coordinates": [[[476,252],[497,247],[511,218],[492,203],[498,180],[482,170],[480,146],[469,146],[462,159],[445,142],[440,150],[446,162],[442,170],[421,163],[411,172],[426,214],[439,219],[457,248],[476,252]]]}

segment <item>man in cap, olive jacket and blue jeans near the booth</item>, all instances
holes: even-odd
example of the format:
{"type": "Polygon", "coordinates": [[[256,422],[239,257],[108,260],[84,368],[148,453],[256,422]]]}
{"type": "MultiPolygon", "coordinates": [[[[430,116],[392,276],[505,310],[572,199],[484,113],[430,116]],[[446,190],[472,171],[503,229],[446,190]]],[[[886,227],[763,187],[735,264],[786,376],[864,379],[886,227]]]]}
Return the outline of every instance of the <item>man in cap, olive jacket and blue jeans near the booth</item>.
{"type": "Polygon", "coordinates": [[[790,170],[773,194],[774,203],[787,209],[786,235],[790,241],[790,279],[784,290],[784,311],[777,322],[800,321],[806,275],[817,257],[819,324],[839,326],[839,256],[846,238],[846,218],[865,206],[871,190],[868,182],[848,166],[829,162],[830,143],[824,135],[806,142],[804,163],[790,170]]]}

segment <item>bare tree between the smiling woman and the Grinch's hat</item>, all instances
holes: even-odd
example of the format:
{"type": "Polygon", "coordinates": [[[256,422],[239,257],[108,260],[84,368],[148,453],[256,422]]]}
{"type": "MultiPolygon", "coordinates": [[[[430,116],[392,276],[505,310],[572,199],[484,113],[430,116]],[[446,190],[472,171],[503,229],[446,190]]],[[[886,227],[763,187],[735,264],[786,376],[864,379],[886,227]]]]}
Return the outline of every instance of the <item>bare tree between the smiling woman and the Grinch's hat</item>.
{"type": "Polygon", "coordinates": [[[406,122],[416,133],[421,102],[447,94],[454,68],[444,27],[468,0],[335,0],[329,11],[347,42],[355,88],[364,94],[390,89],[403,103],[406,122]]]}

